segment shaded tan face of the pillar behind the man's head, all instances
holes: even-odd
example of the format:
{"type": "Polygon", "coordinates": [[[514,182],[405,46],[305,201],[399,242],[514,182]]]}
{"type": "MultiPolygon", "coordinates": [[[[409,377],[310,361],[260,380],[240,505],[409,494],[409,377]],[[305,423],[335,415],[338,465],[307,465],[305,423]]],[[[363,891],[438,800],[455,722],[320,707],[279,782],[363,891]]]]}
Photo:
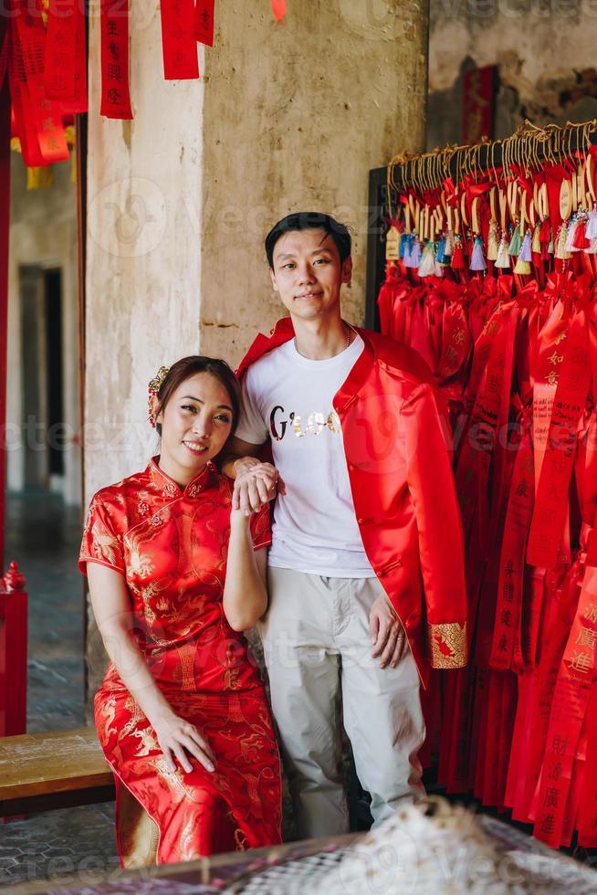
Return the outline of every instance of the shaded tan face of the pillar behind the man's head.
{"type": "Polygon", "coordinates": [[[263,240],[280,217],[350,225],[345,316],[364,320],[369,170],[424,148],[425,3],[292,0],[217,6],[206,58],[201,345],[236,363],[281,316],[263,240]]]}

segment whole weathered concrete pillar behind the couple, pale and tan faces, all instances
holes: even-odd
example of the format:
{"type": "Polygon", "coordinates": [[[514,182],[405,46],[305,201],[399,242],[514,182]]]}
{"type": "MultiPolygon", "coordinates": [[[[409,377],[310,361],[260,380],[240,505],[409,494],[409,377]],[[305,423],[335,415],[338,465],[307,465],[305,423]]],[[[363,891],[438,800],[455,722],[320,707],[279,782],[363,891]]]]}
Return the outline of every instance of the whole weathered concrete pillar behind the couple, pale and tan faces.
{"type": "MultiPolygon", "coordinates": [[[[131,5],[131,123],[99,118],[90,36],[85,498],[152,453],[146,384],[201,351],[236,363],[281,316],[263,238],[323,210],[353,228],[345,315],[364,319],[367,184],[424,148],[427,3],[218,0],[201,81],[162,77],[159,11],[131,5]],[[135,21],[137,19],[137,21],[135,21]]],[[[104,658],[89,627],[89,689],[104,658]]]]}

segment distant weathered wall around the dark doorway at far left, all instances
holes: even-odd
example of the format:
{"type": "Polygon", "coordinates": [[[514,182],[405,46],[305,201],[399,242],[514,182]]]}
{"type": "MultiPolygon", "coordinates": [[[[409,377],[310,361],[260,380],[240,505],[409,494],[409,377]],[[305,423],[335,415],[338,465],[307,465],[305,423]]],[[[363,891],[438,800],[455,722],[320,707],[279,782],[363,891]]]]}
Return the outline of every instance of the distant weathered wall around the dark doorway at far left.
{"type": "MultiPolygon", "coordinates": [[[[36,438],[23,427],[21,300],[19,268],[36,265],[62,270],[62,380],[64,424],[79,434],[79,342],[77,304],[77,223],[75,187],[69,162],[53,166],[54,183],[47,189],[26,189],[26,166],[17,153],[11,160],[10,253],[8,269],[7,486],[24,484],[24,443],[36,438]]],[[[41,371],[43,374],[43,371],[41,371]]],[[[44,380],[45,381],[45,380],[44,380]]],[[[39,421],[43,422],[43,421],[39,421]]],[[[80,501],[80,447],[69,438],[65,446],[64,498],[80,501]]]]}

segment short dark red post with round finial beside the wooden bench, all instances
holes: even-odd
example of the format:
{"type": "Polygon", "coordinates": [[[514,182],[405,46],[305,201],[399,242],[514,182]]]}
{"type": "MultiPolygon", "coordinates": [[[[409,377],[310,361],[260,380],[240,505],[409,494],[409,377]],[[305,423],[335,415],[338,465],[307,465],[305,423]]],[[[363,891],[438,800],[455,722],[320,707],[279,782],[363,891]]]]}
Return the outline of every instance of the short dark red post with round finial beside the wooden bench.
{"type": "Polygon", "coordinates": [[[27,595],[15,562],[0,578],[0,736],[26,733],[27,595]]]}

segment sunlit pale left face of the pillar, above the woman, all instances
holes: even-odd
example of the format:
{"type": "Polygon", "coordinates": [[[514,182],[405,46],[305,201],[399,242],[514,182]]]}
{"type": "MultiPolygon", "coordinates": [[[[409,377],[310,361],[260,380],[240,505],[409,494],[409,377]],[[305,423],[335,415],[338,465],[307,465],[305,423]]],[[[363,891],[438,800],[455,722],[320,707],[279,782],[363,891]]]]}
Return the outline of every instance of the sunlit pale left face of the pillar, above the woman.
{"type": "MultiPolygon", "coordinates": [[[[156,4],[131,7],[134,121],[99,116],[99,19],[89,36],[85,501],[157,445],[147,383],[199,347],[201,81],[164,81],[156,4]]],[[[89,693],[105,655],[89,614],[89,693]]]]}

